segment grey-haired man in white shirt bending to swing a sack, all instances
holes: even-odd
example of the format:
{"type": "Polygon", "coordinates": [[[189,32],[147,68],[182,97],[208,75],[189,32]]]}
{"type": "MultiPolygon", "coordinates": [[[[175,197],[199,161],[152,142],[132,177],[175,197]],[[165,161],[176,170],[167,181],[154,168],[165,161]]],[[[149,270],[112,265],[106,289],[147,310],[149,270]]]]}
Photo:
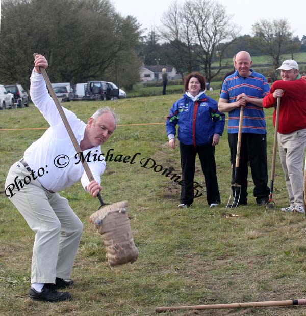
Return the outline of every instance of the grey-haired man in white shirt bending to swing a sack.
{"type": "Polygon", "coordinates": [[[57,289],[73,284],[69,277],[83,224],[67,199],[56,192],[81,178],[84,189],[97,196],[102,189],[100,176],[106,167],[100,146],[115,131],[118,120],[105,107],[97,110],[85,124],[63,108],[95,179],[89,181],[40,73],[39,67],[48,67],[47,60],[37,55],[34,65],[31,99],[50,127],[12,165],[5,193],[36,233],[29,295],[34,300],[58,302],[71,298],[69,292],[57,289]]]}

